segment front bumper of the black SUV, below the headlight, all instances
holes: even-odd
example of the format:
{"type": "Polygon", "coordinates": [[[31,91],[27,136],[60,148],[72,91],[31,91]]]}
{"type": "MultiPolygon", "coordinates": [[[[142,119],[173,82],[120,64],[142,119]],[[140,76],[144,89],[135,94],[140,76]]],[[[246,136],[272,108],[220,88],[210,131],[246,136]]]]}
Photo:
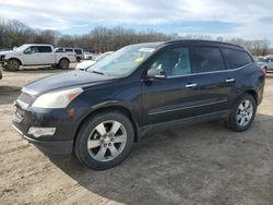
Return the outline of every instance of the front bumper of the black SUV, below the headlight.
{"type": "Polygon", "coordinates": [[[76,133],[76,122],[69,119],[67,110],[27,109],[15,104],[16,112],[13,116],[13,128],[29,143],[44,153],[52,155],[71,155],[73,140],[76,133]],[[35,137],[27,131],[31,126],[56,128],[54,135],[35,137]]]}

